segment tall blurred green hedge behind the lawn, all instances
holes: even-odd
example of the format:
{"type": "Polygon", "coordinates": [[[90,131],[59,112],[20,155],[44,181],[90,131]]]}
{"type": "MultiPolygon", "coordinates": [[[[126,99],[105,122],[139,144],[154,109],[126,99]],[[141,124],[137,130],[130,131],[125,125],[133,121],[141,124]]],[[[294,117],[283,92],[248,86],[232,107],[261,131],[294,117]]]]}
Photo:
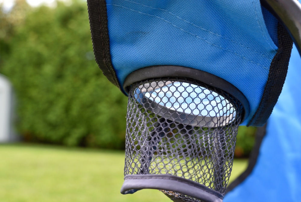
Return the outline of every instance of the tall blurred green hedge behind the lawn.
{"type": "MultiPolygon", "coordinates": [[[[86,3],[0,9],[0,73],[17,96],[24,141],[123,149],[127,97],[94,61],[86,3]]],[[[236,157],[248,156],[254,128],[240,127],[236,157]]]]}

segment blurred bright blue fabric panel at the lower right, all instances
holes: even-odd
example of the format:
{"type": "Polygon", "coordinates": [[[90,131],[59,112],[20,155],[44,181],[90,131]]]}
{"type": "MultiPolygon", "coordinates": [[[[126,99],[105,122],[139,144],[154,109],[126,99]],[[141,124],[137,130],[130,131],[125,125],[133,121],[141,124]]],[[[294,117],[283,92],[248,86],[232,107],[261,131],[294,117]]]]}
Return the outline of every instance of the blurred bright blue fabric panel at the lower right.
{"type": "Polygon", "coordinates": [[[258,162],[224,202],[299,202],[301,194],[301,59],[293,47],[282,93],[268,120],[258,162]]]}

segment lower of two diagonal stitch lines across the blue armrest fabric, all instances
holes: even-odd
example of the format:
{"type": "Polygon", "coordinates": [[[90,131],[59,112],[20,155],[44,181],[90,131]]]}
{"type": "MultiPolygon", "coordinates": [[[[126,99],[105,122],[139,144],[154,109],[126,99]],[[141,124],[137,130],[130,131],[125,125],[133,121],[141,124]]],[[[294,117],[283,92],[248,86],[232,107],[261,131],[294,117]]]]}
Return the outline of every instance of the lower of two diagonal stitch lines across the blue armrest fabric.
{"type": "Polygon", "coordinates": [[[269,70],[267,67],[263,66],[262,64],[256,63],[255,61],[252,61],[252,60],[249,60],[248,58],[243,57],[243,56],[240,55],[240,54],[237,54],[237,53],[235,53],[235,52],[233,52],[233,51],[230,51],[230,50],[228,50],[228,49],[226,49],[226,48],[223,48],[223,47],[221,47],[221,46],[218,46],[218,45],[216,45],[216,44],[213,44],[213,43],[211,43],[211,42],[209,42],[209,41],[207,41],[207,40],[205,40],[205,39],[203,39],[203,38],[201,38],[201,37],[199,37],[199,36],[197,36],[197,35],[195,35],[195,34],[193,34],[193,33],[190,33],[190,32],[188,32],[188,31],[186,31],[186,30],[183,30],[182,28],[180,28],[180,27],[174,25],[173,23],[169,22],[168,20],[165,20],[165,19],[162,18],[162,17],[158,17],[158,16],[155,16],[155,15],[150,15],[150,14],[147,14],[147,13],[142,13],[142,12],[140,12],[140,11],[136,11],[136,10],[133,10],[133,9],[131,9],[131,8],[127,8],[127,7],[124,7],[124,6],[121,6],[121,5],[117,5],[117,4],[108,4],[108,5],[113,5],[113,6],[118,6],[118,7],[121,7],[121,8],[126,8],[126,9],[128,9],[128,10],[130,10],[130,11],[137,12],[137,13],[139,13],[139,14],[143,14],[143,15],[148,15],[148,16],[152,16],[152,17],[159,18],[159,19],[161,19],[161,20],[163,20],[163,21],[165,21],[165,22],[171,24],[172,26],[174,26],[174,27],[180,29],[181,31],[186,32],[186,33],[188,33],[188,34],[191,34],[192,36],[195,36],[196,38],[199,38],[199,39],[201,39],[201,40],[203,40],[203,41],[209,43],[210,45],[213,45],[213,46],[215,46],[215,47],[217,47],[217,48],[220,48],[220,49],[222,49],[222,50],[225,50],[225,51],[228,51],[228,52],[230,52],[230,53],[233,53],[233,54],[235,54],[235,55],[237,55],[237,56],[239,56],[239,57],[241,57],[241,58],[243,58],[243,59],[245,59],[245,60],[247,60],[247,61],[249,61],[249,62],[252,62],[252,63],[254,63],[254,64],[257,64],[257,65],[259,65],[259,66],[265,68],[266,70],[269,70]]]}

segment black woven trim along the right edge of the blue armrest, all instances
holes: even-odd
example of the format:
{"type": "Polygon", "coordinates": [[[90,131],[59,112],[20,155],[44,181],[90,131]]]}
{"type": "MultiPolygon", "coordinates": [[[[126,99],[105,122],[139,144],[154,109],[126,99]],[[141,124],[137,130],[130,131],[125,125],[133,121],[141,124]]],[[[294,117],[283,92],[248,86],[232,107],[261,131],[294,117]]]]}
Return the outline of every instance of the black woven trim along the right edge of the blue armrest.
{"type": "Polygon", "coordinates": [[[277,34],[279,48],[271,62],[268,81],[265,85],[259,107],[247,126],[263,126],[268,117],[270,117],[282,91],[293,48],[293,41],[280,23],[278,23],[277,34]]]}

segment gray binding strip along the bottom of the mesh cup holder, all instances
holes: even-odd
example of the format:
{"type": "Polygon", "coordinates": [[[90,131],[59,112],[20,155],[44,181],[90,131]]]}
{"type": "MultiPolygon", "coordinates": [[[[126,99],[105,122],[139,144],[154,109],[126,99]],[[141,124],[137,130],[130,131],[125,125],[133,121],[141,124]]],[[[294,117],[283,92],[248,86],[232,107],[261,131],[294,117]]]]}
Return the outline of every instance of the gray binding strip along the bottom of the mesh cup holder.
{"type": "Polygon", "coordinates": [[[133,193],[134,189],[164,189],[184,194],[204,202],[222,202],[224,195],[205,185],[174,175],[126,175],[121,193],[133,193]]]}

